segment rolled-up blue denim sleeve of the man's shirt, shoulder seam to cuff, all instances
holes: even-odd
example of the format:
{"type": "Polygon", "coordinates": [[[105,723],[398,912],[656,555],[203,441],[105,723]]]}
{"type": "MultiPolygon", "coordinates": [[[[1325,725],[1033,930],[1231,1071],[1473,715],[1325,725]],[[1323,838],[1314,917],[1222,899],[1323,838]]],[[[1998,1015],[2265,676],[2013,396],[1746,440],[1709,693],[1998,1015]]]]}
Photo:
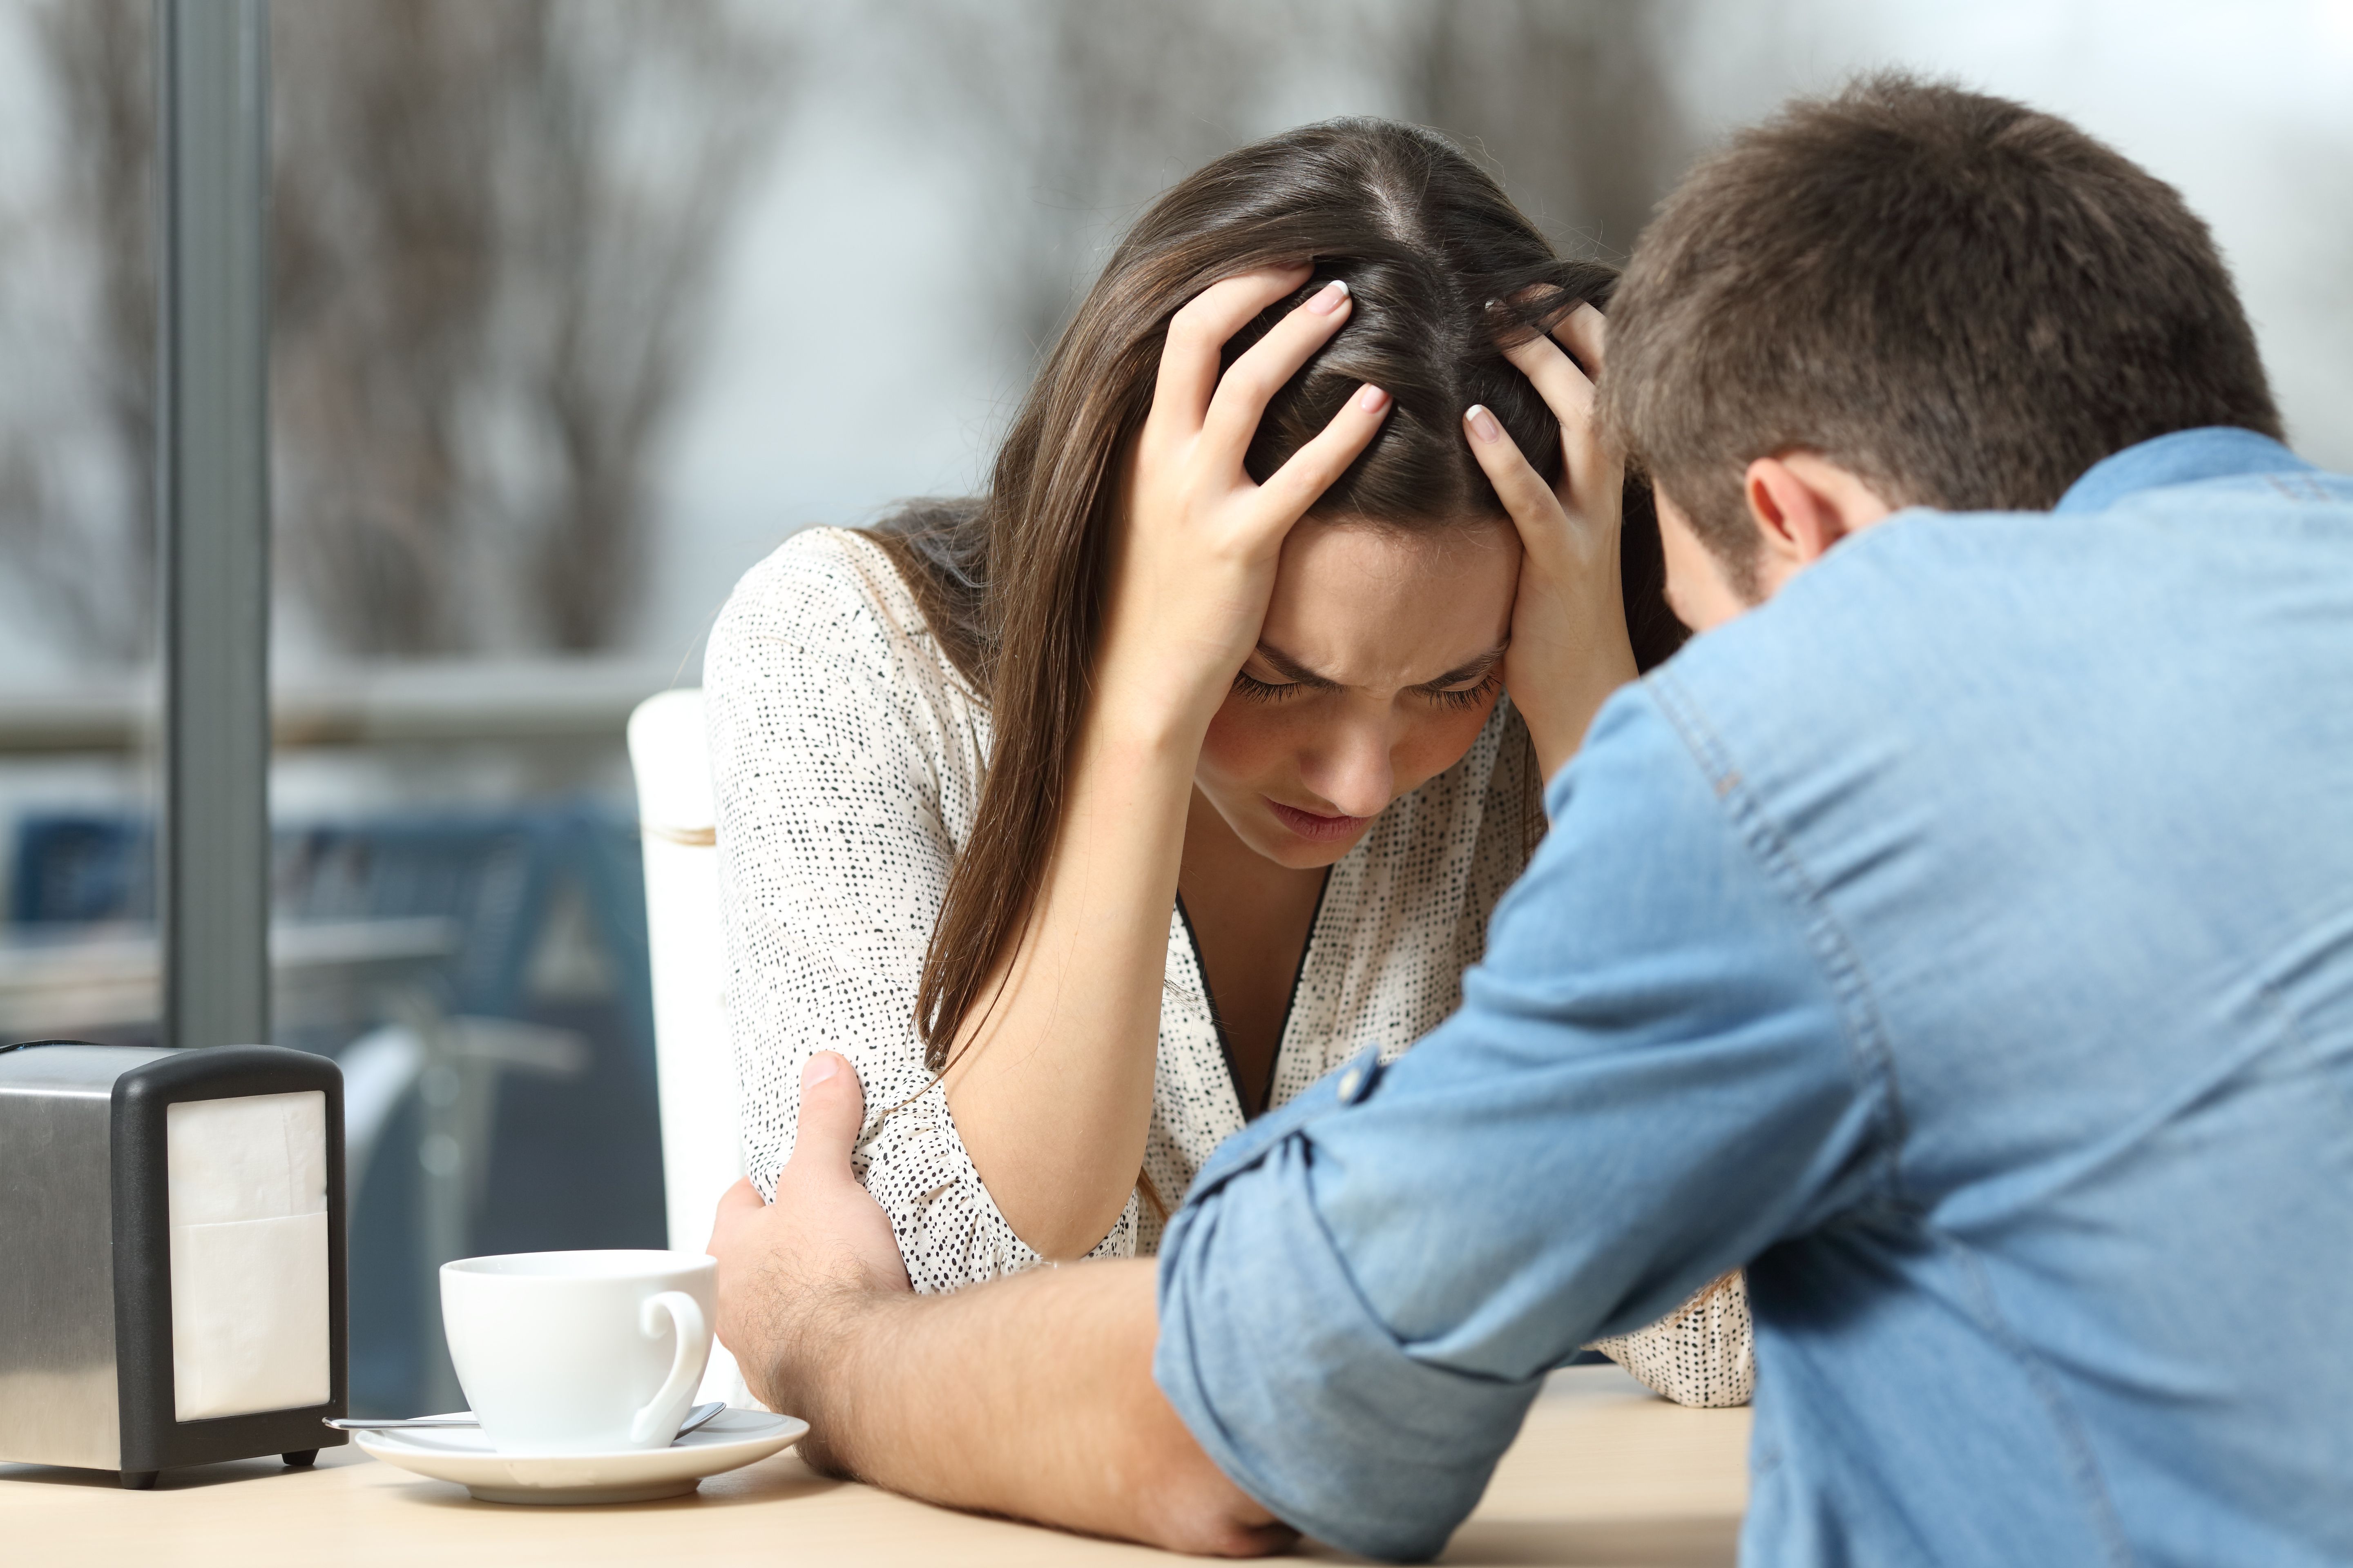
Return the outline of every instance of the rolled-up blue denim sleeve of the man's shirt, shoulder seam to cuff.
{"type": "Polygon", "coordinates": [[[1645,689],[1553,785],[1461,1011],[1228,1140],[1160,1251],[1155,1378],[1217,1465],[1419,1559],[1541,1378],[1885,1185],[1835,926],[1645,689]]]}

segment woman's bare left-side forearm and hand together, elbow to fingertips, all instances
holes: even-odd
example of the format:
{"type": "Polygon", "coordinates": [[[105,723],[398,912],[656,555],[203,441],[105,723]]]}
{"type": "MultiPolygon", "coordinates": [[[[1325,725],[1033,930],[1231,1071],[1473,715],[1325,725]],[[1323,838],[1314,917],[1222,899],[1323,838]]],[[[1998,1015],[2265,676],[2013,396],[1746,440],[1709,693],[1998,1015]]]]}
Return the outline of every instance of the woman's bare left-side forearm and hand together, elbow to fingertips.
{"type": "Polygon", "coordinates": [[[1348,320],[1348,287],[1322,287],[1231,367],[1221,346],[1306,277],[1228,277],[1169,320],[1122,461],[1101,656],[1045,884],[953,1046],[955,1131],[1045,1258],[1101,1241],[1144,1168],[1200,743],[1257,644],[1282,538],[1388,414],[1365,388],[1264,487],[1245,470],[1266,400],[1348,320]]]}

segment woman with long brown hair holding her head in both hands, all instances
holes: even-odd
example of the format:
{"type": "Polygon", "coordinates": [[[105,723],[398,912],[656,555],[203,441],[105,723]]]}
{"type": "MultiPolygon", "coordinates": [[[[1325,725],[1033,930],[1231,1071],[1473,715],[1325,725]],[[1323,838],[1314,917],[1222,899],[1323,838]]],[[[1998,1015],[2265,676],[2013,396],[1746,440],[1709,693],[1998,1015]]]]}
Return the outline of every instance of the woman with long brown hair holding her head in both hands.
{"type": "MultiPolygon", "coordinates": [[[[1454,1009],[1544,778],[1680,639],[1546,336],[1595,364],[1609,282],[1426,132],[1275,136],[1144,214],[984,498],[744,578],[708,686],[765,1192],[840,1051],[918,1291],[1148,1253],[1247,1117],[1454,1009]]],[[[1744,1399],[1739,1281],[1605,1349],[1744,1399]]]]}

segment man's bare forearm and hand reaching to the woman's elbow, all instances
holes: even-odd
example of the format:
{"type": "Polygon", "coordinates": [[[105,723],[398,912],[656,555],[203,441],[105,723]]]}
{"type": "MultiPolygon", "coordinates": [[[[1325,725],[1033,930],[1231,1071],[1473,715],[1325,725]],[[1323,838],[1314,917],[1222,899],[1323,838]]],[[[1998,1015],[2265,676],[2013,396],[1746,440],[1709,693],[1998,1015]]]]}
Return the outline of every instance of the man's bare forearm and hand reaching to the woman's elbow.
{"type": "Polygon", "coordinates": [[[720,1342],[809,1422],[833,1474],[1066,1530],[1252,1556],[1294,1540],[1219,1474],[1153,1385],[1153,1265],[1082,1262],[913,1295],[889,1220],[849,1173],[866,1117],[831,1051],[800,1079],[776,1201],[720,1199],[720,1342]]]}

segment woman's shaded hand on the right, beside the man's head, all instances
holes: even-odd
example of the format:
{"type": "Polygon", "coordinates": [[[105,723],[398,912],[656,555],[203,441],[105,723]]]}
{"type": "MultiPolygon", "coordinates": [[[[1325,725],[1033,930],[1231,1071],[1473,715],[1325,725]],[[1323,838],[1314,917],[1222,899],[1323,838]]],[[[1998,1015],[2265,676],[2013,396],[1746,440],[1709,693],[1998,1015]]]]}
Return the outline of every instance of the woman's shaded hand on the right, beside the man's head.
{"type": "Polygon", "coordinates": [[[1602,369],[1602,313],[1577,306],[1553,336],[1560,341],[1520,343],[1508,360],[1560,418],[1558,489],[1527,465],[1494,414],[1471,409],[1464,416],[1471,451],[1520,531],[1520,590],[1511,607],[1504,686],[1527,719],[1546,778],[1577,755],[1609,693],[1635,677],[1619,588],[1626,465],[1602,442],[1593,400],[1593,376],[1602,369]]]}

